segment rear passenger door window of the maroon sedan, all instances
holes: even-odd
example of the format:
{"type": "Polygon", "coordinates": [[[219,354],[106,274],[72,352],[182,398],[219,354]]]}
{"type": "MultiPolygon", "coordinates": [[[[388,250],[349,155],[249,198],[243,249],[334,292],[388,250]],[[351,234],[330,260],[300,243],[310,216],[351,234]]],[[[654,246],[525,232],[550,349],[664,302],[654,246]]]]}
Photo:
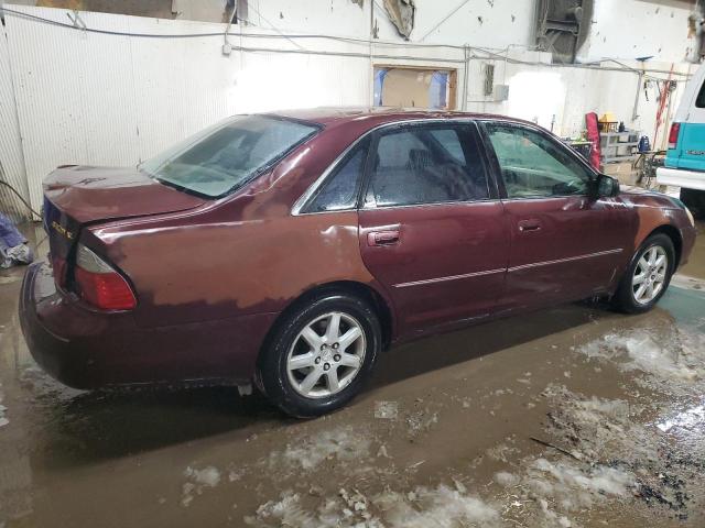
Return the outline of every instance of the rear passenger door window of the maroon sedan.
{"type": "Polygon", "coordinates": [[[370,158],[366,204],[377,207],[489,198],[468,125],[413,125],[380,136],[370,158]]]}

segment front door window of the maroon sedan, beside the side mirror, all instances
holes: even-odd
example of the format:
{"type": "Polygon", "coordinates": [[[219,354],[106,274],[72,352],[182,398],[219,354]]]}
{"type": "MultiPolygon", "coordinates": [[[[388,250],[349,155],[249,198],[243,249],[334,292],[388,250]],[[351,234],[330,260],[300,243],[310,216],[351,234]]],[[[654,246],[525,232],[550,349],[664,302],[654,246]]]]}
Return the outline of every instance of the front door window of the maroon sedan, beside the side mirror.
{"type": "Polygon", "coordinates": [[[509,198],[586,195],[590,173],[560,143],[521,127],[488,123],[509,198]]]}

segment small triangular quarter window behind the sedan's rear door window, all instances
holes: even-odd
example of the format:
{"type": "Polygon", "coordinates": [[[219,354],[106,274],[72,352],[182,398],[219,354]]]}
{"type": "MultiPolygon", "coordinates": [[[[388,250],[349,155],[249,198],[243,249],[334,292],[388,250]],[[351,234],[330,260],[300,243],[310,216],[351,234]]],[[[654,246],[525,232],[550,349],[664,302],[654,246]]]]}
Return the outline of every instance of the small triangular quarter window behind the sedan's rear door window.
{"type": "Polygon", "coordinates": [[[305,208],[305,212],[340,211],[355,208],[369,143],[369,138],[365,138],[345,156],[321,186],[318,193],[305,208]]]}

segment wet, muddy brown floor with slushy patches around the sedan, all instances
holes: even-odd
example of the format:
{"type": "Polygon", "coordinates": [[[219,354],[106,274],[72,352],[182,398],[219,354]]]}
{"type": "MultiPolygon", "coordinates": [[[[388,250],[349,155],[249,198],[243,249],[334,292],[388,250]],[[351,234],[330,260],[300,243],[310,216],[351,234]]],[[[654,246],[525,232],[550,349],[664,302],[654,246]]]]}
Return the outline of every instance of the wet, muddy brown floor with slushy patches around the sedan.
{"type": "Polygon", "coordinates": [[[58,385],[19,329],[22,274],[0,274],[1,528],[705,526],[705,239],[650,314],[402,346],[311,421],[230,388],[58,385]]]}

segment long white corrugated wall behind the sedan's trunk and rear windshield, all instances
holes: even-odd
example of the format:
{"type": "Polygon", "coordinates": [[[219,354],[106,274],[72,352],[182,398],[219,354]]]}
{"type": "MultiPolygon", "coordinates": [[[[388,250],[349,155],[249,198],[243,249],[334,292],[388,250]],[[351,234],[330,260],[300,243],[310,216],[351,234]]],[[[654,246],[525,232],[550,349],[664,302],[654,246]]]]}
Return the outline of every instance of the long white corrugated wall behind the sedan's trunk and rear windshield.
{"type": "MultiPolygon", "coordinates": [[[[58,22],[66,11],[11,6],[58,22]]],[[[225,25],[82,12],[88,28],[142,34],[219,33],[225,25]]],[[[6,16],[32,204],[61,164],[129,166],[239,112],[366,105],[369,59],[232,52],[223,36],[138,37],[74,31],[6,16]]],[[[282,38],[230,36],[232,44],[299,50],[282,38]]],[[[304,50],[367,48],[306,42],[304,50]],[[337,46],[337,47],[336,47],[337,46]]]]}

